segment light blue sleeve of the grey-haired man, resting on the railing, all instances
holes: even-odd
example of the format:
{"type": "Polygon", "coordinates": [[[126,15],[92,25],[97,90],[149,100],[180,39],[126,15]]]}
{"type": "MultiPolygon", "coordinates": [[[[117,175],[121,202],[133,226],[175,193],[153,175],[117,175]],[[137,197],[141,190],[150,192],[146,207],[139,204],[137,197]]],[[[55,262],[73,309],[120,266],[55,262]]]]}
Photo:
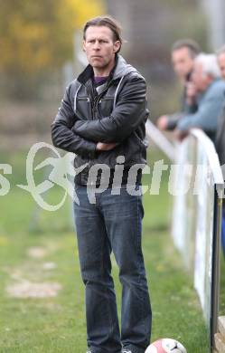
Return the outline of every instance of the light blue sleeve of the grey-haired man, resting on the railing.
{"type": "Polygon", "coordinates": [[[223,95],[221,92],[218,93],[215,92],[206,97],[194,114],[188,114],[180,119],[177,128],[181,131],[192,128],[200,128],[209,132],[216,131],[223,103],[223,95]]]}

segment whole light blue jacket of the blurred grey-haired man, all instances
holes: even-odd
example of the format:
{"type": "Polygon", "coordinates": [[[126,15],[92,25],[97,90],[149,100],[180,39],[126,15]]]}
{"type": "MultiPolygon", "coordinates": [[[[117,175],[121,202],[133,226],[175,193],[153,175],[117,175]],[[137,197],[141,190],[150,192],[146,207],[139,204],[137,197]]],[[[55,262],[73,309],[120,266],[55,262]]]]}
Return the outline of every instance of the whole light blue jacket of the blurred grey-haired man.
{"type": "Polygon", "coordinates": [[[199,95],[196,112],[184,115],[177,128],[181,131],[200,128],[214,140],[224,103],[224,91],[224,81],[220,79],[212,81],[207,90],[199,95]]]}

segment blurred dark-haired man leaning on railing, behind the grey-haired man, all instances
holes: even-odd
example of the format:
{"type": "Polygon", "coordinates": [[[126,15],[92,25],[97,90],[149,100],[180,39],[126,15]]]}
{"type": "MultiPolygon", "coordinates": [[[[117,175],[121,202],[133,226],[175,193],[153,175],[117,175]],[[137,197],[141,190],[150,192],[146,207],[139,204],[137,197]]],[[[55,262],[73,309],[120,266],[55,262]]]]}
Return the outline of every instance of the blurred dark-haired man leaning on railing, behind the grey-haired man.
{"type": "MultiPolygon", "coordinates": [[[[157,120],[157,126],[161,130],[173,130],[178,120],[183,116],[183,112],[187,111],[189,103],[187,97],[188,84],[191,81],[194,59],[200,52],[198,43],[191,39],[183,39],[177,41],[172,47],[172,63],[173,70],[183,86],[183,97],[181,102],[181,111],[173,115],[163,115],[157,120]]],[[[191,92],[191,88],[189,90],[191,92]]],[[[195,107],[192,104],[192,110],[195,107]]]]}

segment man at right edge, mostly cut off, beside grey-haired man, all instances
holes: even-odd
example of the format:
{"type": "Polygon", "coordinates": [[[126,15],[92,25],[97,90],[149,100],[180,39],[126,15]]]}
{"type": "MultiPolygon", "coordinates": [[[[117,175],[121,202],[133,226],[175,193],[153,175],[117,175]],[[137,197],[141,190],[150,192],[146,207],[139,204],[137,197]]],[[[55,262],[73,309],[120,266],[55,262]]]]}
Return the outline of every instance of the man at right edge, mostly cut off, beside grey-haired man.
{"type": "MultiPolygon", "coordinates": [[[[225,80],[225,45],[217,53],[217,59],[220,66],[220,72],[223,80],[225,80]]],[[[224,106],[222,114],[220,115],[218,129],[216,134],[216,149],[220,159],[220,166],[222,168],[223,179],[225,179],[225,91],[224,91],[224,106]]],[[[221,239],[222,239],[222,249],[225,256],[225,203],[223,200],[222,203],[222,230],[221,230],[221,239]]]]}

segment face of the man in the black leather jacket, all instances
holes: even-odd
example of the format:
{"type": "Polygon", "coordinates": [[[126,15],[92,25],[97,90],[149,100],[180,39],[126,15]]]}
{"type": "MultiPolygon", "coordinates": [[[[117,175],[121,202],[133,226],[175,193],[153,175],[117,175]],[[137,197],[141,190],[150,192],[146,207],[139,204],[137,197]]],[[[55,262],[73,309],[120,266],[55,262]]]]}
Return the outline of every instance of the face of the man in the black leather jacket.
{"type": "Polygon", "coordinates": [[[89,64],[95,69],[106,70],[115,60],[120,42],[114,42],[113,33],[107,26],[89,26],[83,41],[83,49],[89,64]]]}

